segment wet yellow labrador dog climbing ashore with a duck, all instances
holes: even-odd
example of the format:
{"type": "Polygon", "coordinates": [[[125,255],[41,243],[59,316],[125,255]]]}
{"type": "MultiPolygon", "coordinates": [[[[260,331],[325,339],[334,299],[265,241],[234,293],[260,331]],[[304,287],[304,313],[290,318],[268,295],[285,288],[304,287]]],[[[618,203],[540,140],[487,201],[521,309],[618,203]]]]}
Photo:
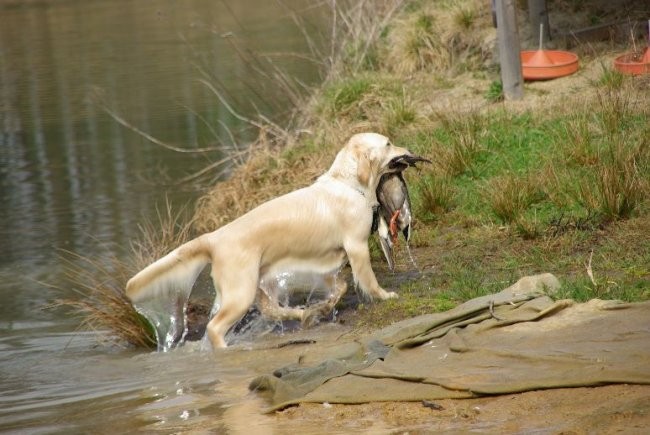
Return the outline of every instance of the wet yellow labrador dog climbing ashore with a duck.
{"type": "MultiPolygon", "coordinates": [[[[169,292],[189,296],[199,273],[211,263],[220,298],[220,308],[207,326],[214,348],[226,347],[225,334],[255,302],[260,281],[282,272],[327,274],[347,257],[355,282],[366,295],[396,298],[377,283],[368,238],[379,179],[404,169],[405,159],[419,158],[380,134],[354,135],[314,184],[176,248],[131,278],[126,293],[134,303],[169,292]]],[[[342,293],[345,288],[338,290],[342,293]]],[[[263,313],[276,318],[305,315],[301,309],[279,307],[268,297],[260,305],[263,313]]]]}

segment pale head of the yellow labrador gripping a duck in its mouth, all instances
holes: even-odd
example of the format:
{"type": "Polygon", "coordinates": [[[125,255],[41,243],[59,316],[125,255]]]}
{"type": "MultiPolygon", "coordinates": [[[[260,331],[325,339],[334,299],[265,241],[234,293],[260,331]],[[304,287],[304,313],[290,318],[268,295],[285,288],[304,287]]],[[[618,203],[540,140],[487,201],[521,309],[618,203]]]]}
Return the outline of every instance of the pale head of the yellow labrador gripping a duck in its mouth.
{"type": "Polygon", "coordinates": [[[374,192],[382,175],[400,172],[416,162],[428,160],[413,155],[406,148],[394,146],[377,133],[359,133],[339,151],[330,175],[374,192]]]}

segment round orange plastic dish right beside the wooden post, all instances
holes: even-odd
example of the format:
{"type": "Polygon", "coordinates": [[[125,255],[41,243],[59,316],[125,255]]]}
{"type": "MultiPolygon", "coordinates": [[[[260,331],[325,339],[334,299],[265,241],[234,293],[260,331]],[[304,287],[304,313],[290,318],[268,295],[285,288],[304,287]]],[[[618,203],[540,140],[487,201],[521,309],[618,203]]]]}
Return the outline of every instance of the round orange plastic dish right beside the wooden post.
{"type": "Polygon", "coordinates": [[[525,80],[550,80],[578,71],[578,56],[568,51],[522,51],[521,66],[525,80]]]}

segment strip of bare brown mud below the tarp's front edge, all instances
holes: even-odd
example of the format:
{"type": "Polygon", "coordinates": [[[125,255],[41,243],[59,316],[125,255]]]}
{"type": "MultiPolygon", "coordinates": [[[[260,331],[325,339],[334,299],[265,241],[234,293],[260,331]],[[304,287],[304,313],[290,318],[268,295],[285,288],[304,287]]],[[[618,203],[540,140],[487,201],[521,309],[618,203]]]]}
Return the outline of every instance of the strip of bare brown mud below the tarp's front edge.
{"type": "Polygon", "coordinates": [[[420,402],[303,404],[277,412],[277,424],[318,422],[323,432],[646,433],[650,386],[608,385],[420,402]]]}

